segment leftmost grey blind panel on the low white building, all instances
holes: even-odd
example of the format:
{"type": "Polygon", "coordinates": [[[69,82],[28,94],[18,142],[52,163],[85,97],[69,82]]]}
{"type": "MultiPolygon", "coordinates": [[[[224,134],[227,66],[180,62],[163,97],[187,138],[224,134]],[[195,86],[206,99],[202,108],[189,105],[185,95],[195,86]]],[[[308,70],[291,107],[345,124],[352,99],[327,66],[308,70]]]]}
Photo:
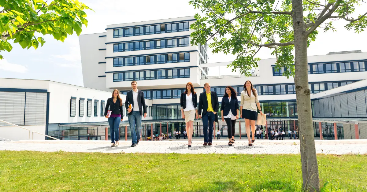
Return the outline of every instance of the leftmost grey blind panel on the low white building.
{"type": "MultiPolygon", "coordinates": [[[[0,92],[1,120],[19,126],[24,125],[25,94],[24,92],[0,92]]],[[[11,125],[0,122],[0,126],[11,125]]]]}

